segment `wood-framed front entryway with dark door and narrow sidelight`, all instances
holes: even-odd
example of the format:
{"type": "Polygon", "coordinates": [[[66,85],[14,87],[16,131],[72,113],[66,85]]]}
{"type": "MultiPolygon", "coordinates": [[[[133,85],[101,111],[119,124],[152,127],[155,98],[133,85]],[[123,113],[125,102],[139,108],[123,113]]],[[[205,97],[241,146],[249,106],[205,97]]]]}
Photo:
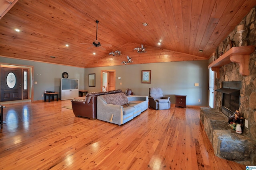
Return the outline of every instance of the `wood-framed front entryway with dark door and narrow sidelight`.
{"type": "Polygon", "coordinates": [[[32,67],[0,64],[0,102],[33,102],[32,67]]]}

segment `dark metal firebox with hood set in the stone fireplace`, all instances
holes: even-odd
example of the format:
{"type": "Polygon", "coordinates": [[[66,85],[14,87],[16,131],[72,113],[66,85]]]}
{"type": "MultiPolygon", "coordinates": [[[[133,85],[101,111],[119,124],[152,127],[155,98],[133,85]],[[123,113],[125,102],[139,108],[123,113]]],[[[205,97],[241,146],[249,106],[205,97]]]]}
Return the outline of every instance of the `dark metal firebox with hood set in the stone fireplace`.
{"type": "Polygon", "coordinates": [[[216,91],[222,92],[222,113],[229,117],[240,106],[240,81],[222,82],[222,88],[216,91]]]}

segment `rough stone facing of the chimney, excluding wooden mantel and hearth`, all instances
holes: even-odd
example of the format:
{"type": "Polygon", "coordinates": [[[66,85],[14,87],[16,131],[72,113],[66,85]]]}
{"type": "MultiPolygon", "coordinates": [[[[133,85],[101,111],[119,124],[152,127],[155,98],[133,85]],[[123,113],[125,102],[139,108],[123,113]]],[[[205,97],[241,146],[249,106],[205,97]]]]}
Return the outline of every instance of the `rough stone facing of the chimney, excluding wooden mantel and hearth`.
{"type": "MultiPolygon", "coordinates": [[[[244,25],[243,41],[242,46],[248,47],[254,46],[256,44],[256,8],[252,8],[247,16],[238,25],[244,25]]],[[[230,50],[226,51],[228,44],[232,42],[233,47],[238,47],[239,44],[239,33],[236,27],[230,34],[224,39],[220,45],[215,49],[216,56],[218,57],[220,53],[223,55],[228,54],[230,50]]],[[[240,48],[238,47],[238,48],[240,48]]],[[[247,50],[246,50],[247,51],[247,50]]],[[[223,57],[223,56],[222,56],[223,57]]],[[[220,57],[221,58],[221,57],[220,57]]],[[[216,59],[217,60],[217,59],[216,59]]],[[[216,77],[214,80],[214,89],[222,89],[225,87],[224,82],[241,82],[240,84],[240,96],[239,96],[239,112],[244,117],[244,128],[243,135],[250,137],[256,142],[256,51],[250,53],[246,69],[241,63],[227,63],[220,66],[216,71],[216,77]],[[242,67],[241,67],[242,66],[242,67]],[[242,74],[240,69],[244,69],[246,74],[242,74]]],[[[231,88],[230,88],[231,89],[231,88]]],[[[235,89],[238,90],[238,89],[235,89]]],[[[218,111],[224,112],[226,116],[229,115],[230,111],[227,111],[226,107],[223,106],[223,95],[226,98],[226,94],[220,91],[215,92],[215,108],[218,111]]],[[[234,97],[234,96],[233,96],[234,97]]],[[[230,99],[230,102],[233,101],[230,99]]],[[[226,103],[225,103],[226,104],[226,103]]],[[[229,106],[228,106],[229,107],[229,106]]],[[[234,106],[237,109],[237,106],[234,106]]],[[[232,112],[233,108],[229,108],[232,112]]],[[[256,164],[256,156],[254,158],[254,164],[256,164]]]]}

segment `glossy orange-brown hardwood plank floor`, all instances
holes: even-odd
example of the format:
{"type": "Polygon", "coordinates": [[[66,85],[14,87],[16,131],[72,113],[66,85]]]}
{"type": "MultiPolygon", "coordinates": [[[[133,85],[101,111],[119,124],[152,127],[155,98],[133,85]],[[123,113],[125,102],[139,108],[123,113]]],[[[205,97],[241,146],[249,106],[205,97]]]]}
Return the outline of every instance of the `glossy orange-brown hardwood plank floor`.
{"type": "Polygon", "coordinates": [[[119,126],[75,117],[70,100],[3,105],[0,169],[245,170],[214,155],[200,108],[149,108],[119,126]]]}

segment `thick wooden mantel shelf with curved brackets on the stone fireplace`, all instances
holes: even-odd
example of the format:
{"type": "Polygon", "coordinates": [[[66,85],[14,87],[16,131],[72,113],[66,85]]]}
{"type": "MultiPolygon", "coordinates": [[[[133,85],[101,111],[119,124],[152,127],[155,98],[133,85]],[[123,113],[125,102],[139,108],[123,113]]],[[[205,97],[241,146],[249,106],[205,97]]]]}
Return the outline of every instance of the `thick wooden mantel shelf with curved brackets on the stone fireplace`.
{"type": "Polygon", "coordinates": [[[211,63],[208,68],[212,68],[212,71],[216,72],[217,78],[220,78],[220,67],[229,63],[238,63],[239,72],[243,76],[248,76],[249,71],[249,61],[250,54],[254,52],[255,46],[241,46],[241,47],[232,47],[213,63],[211,63]]]}

